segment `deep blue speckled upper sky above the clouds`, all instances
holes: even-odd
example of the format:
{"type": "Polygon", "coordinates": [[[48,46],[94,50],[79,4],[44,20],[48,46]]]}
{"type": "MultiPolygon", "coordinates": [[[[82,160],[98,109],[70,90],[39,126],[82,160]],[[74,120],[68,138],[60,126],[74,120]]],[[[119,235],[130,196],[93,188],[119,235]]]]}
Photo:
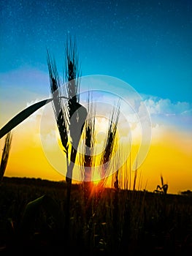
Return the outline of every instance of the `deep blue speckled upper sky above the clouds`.
{"type": "Polygon", "coordinates": [[[191,13],[190,0],[1,1],[1,87],[13,86],[15,71],[14,86],[38,91],[23,74],[47,73],[46,48],[62,72],[72,34],[82,75],[110,75],[141,94],[192,102],[191,13]]]}

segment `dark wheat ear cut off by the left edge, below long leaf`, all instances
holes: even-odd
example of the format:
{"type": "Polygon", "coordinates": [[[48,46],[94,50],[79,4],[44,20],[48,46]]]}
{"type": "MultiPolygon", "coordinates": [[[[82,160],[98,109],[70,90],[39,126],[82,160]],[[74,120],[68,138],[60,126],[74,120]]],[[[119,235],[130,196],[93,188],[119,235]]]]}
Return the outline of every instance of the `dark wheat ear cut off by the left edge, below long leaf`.
{"type": "Polygon", "coordinates": [[[1,156],[1,165],[0,165],[0,182],[3,179],[6,167],[7,167],[7,162],[9,159],[9,152],[12,144],[12,132],[8,132],[5,141],[4,141],[4,148],[3,148],[3,153],[1,156]]]}

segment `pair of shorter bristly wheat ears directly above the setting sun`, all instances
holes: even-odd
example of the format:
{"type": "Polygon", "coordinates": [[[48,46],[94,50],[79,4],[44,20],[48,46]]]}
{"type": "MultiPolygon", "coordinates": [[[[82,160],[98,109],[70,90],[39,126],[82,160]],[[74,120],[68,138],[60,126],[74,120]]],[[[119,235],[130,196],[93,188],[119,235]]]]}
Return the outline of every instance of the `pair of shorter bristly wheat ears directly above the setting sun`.
{"type": "MultiPolygon", "coordinates": [[[[87,102],[88,117],[85,121],[82,152],[80,165],[82,169],[82,191],[85,203],[85,215],[89,220],[96,213],[96,209],[104,190],[107,179],[111,175],[111,168],[115,168],[115,153],[117,150],[117,126],[120,106],[113,107],[107,127],[107,135],[103,142],[104,151],[96,152],[96,105],[93,105],[88,94],[87,102]],[[114,159],[113,159],[114,158],[114,159]]],[[[115,172],[115,170],[113,170],[115,172]]]]}

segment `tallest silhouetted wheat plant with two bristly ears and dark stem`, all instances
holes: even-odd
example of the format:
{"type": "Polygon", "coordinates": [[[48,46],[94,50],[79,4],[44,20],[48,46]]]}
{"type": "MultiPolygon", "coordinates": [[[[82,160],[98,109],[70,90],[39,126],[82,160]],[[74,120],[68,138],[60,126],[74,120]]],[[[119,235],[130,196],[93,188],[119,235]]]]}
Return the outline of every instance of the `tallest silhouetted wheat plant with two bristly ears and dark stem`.
{"type": "Polygon", "coordinates": [[[69,37],[66,41],[66,68],[64,71],[64,86],[58,78],[55,61],[47,51],[47,64],[50,75],[50,91],[53,95],[53,110],[57,121],[61,143],[66,154],[66,233],[69,230],[70,195],[72,187],[72,173],[77,157],[77,147],[85,124],[87,110],[79,103],[80,67],[78,64],[75,42],[69,37]],[[67,102],[62,95],[66,91],[67,102]]]}

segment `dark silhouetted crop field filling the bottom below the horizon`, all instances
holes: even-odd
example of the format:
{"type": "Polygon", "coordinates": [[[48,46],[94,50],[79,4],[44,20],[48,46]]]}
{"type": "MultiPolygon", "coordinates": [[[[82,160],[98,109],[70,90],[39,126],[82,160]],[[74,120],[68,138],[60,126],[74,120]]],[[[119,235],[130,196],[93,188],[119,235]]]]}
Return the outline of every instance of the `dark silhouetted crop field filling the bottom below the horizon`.
{"type": "Polygon", "coordinates": [[[4,177],[0,189],[0,255],[192,255],[190,196],[95,187],[85,202],[74,184],[66,233],[65,182],[4,177]]]}

